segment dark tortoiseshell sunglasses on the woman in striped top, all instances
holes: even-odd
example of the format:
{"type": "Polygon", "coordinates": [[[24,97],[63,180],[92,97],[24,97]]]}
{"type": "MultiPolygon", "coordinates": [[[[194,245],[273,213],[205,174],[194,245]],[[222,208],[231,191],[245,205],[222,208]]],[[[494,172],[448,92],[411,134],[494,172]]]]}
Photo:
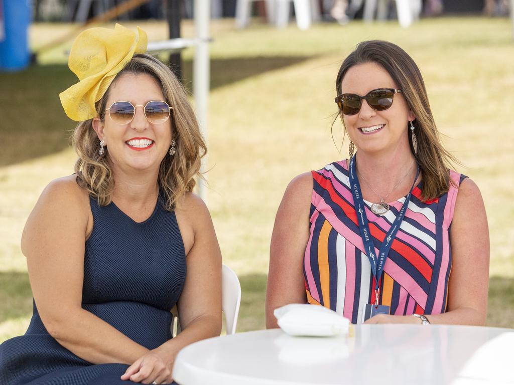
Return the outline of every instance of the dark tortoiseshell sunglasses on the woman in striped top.
{"type": "Polygon", "coordinates": [[[393,105],[393,97],[395,93],[398,92],[401,92],[401,90],[394,88],[377,88],[368,92],[363,97],[356,93],[343,93],[337,95],[335,100],[339,110],[345,115],[355,115],[360,111],[362,99],[365,99],[366,103],[374,110],[383,111],[393,105]]]}

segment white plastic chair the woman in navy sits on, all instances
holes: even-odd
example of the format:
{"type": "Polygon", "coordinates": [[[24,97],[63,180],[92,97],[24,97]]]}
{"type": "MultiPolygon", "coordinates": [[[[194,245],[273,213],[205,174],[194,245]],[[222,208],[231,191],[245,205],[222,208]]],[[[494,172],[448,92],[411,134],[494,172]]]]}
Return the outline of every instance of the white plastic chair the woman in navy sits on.
{"type": "MultiPolygon", "coordinates": [[[[241,283],[234,271],[226,264],[222,265],[222,311],[225,313],[225,323],[227,325],[227,335],[234,334],[237,326],[237,316],[241,304],[241,283]]],[[[177,305],[171,310],[173,322],[171,333],[176,337],[180,333],[180,323],[178,322],[177,305]]]]}

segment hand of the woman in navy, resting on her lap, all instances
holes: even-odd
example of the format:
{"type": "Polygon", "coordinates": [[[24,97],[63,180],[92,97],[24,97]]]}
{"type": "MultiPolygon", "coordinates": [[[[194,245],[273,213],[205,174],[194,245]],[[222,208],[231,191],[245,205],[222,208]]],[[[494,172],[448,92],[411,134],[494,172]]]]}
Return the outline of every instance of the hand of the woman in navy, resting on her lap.
{"type": "Polygon", "coordinates": [[[130,365],[121,379],[145,384],[171,383],[174,361],[173,356],[165,354],[159,348],[151,350],[130,365]]]}

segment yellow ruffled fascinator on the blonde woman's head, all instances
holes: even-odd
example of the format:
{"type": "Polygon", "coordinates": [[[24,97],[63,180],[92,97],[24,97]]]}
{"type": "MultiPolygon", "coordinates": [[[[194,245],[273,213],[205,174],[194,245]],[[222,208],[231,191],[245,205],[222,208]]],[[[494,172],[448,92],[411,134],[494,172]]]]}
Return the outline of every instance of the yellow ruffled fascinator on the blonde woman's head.
{"type": "Polygon", "coordinates": [[[80,82],[59,94],[68,117],[83,121],[96,117],[98,102],[135,53],[144,53],[146,32],[138,33],[119,24],[113,29],[90,28],[83,31],[71,47],[68,66],[80,82]]]}

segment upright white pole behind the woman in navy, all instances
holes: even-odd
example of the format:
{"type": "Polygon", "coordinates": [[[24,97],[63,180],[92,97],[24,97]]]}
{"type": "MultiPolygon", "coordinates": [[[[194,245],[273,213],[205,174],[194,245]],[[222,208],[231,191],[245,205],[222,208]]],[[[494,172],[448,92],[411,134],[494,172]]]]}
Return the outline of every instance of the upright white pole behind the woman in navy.
{"type": "MultiPolygon", "coordinates": [[[[209,63],[209,20],[210,1],[194,0],[194,24],[196,36],[200,43],[196,46],[196,55],[193,63],[193,93],[196,102],[196,117],[200,125],[200,132],[207,143],[207,111],[209,106],[210,63],[209,63]]],[[[207,169],[207,156],[201,163],[201,172],[207,169]]],[[[198,181],[198,195],[206,201],[206,184],[198,181]]]]}

